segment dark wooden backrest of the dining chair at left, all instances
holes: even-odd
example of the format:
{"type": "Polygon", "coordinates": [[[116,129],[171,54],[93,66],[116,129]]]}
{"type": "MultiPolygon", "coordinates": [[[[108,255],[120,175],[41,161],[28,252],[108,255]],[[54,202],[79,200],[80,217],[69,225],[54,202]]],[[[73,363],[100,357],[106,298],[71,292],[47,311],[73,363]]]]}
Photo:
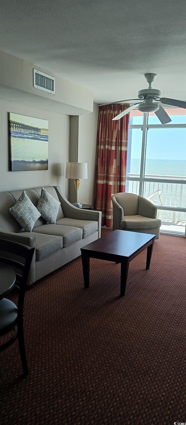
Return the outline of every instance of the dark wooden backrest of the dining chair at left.
{"type": "Polygon", "coordinates": [[[18,314],[23,312],[27,278],[35,248],[0,238],[0,261],[12,266],[19,287],[18,314]]]}

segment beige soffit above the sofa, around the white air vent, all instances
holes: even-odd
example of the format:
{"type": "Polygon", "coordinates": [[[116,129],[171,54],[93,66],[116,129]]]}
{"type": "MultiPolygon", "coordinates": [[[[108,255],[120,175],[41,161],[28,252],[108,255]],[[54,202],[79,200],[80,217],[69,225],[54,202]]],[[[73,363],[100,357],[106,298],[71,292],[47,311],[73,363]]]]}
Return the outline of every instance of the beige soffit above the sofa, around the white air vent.
{"type": "Polygon", "coordinates": [[[37,102],[44,104],[45,101],[46,107],[51,105],[49,106],[50,110],[58,108],[59,112],[69,115],[80,115],[93,111],[93,91],[58,77],[50,71],[36,68],[38,71],[55,77],[55,95],[39,90],[33,87],[33,68],[36,67],[29,62],[0,51],[0,88],[3,93],[0,97],[10,99],[5,97],[9,96],[8,88],[11,96],[13,96],[13,91],[24,93],[29,105],[33,101],[34,105],[37,102]],[[34,99],[33,96],[37,96],[38,99],[34,99]]]}

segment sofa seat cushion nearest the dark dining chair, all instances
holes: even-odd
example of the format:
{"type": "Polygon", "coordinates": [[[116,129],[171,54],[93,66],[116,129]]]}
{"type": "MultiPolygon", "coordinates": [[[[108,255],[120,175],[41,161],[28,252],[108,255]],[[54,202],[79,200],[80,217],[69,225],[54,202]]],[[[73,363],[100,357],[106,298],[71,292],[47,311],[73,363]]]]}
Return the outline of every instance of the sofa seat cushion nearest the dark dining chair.
{"type": "MultiPolygon", "coordinates": [[[[24,232],[26,236],[27,232],[24,232]]],[[[28,233],[30,235],[30,233],[28,233]]],[[[54,235],[32,232],[36,236],[36,261],[43,260],[63,248],[63,238],[54,235]]]]}

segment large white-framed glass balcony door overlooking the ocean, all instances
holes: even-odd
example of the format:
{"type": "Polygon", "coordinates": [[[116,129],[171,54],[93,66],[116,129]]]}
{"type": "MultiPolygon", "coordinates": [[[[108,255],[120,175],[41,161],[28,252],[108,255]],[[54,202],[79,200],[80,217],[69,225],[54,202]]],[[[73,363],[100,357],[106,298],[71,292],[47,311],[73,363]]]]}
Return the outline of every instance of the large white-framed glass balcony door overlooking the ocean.
{"type": "Polygon", "coordinates": [[[155,113],[130,113],[126,192],[158,207],[161,232],[186,235],[186,110],[165,111],[166,125],[155,113]]]}

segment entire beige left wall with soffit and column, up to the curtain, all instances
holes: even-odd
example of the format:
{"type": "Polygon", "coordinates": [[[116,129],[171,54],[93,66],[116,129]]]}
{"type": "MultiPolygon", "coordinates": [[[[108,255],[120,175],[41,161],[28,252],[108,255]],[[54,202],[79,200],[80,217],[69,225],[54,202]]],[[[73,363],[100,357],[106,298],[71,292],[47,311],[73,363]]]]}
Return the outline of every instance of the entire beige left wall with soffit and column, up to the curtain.
{"type": "Polygon", "coordinates": [[[0,191],[58,185],[75,201],[66,162],[87,162],[88,180],[79,186],[79,202],[93,205],[98,105],[93,92],[56,77],[56,95],[33,88],[33,65],[0,52],[0,191]],[[92,112],[93,111],[93,112],[92,112]],[[8,112],[49,121],[49,164],[43,171],[8,170],[8,112]]]}

